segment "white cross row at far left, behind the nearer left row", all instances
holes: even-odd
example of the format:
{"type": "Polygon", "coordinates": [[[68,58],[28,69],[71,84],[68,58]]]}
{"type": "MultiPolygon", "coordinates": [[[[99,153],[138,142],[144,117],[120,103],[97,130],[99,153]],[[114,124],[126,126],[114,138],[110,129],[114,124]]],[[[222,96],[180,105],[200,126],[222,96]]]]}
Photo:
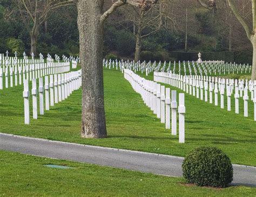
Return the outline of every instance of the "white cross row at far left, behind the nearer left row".
{"type": "Polygon", "coordinates": [[[15,59],[10,58],[0,64],[0,90],[3,89],[3,78],[5,77],[5,88],[21,85],[24,79],[44,77],[49,74],[57,74],[70,71],[69,63],[43,63],[41,59],[15,59]],[[22,80],[23,79],[23,80],[22,80]]]}

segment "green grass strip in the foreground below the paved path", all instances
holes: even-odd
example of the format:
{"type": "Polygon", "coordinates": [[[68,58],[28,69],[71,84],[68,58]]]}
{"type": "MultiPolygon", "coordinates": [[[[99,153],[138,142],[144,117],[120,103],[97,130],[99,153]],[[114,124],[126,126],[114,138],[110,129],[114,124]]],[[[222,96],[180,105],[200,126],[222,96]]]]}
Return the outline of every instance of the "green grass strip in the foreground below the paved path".
{"type": "Polygon", "coordinates": [[[0,151],[0,196],[255,196],[256,188],[184,184],[154,175],[0,151]],[[64,165],[56,169],[44,165],[64,165]]]}

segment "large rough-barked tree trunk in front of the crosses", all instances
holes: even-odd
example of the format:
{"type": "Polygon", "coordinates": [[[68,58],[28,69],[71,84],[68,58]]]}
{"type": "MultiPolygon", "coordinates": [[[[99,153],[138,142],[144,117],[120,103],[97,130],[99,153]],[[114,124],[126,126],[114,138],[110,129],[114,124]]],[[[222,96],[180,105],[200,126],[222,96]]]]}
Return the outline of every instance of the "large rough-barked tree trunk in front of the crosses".
{"type": "Polygon", "coordinates": [[[78,29],[82,63],[83,138],[105,138],[106,121],[103,90],[103,1],[79,0],[78,29]]]}

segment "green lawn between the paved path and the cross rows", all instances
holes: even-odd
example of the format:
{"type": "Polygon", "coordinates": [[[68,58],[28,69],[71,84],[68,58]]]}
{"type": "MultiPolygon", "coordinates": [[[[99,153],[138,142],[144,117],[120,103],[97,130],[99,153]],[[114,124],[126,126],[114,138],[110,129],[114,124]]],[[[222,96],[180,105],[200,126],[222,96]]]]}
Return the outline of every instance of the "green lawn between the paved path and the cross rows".
{"type": "Polygon", "coordinates": [[[0,90],[0,132],[177,156],[185,156],[197,146],[217,146],[233,163],[256,166],[256,122],[251,101],[250,117],[244,118],[241,100],[240,114],[235,114],[233,100],[232,112],[228,112],[185,94],[185,144],[179,144],[178,136],[165,130],[120,71],[104,69],[104,87],[106,139],[80,138],[81,90],[38,120],[32,119],[31,106],[31,124],[24,125],[23,86],[0,90]]]}

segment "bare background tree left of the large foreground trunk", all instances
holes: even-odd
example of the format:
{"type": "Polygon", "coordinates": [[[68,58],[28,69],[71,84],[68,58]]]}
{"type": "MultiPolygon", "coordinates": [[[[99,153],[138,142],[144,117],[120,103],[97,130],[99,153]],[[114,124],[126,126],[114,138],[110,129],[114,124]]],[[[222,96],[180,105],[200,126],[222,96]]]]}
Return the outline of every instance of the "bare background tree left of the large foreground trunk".
{"type": "Polygon", "coordinates": [[[72,0],[15,0],[15,3],[31,38],[30,52],[35,55],[40,26],[46,22],[56,9],[66,5],[75,5],[72,0]]]}

